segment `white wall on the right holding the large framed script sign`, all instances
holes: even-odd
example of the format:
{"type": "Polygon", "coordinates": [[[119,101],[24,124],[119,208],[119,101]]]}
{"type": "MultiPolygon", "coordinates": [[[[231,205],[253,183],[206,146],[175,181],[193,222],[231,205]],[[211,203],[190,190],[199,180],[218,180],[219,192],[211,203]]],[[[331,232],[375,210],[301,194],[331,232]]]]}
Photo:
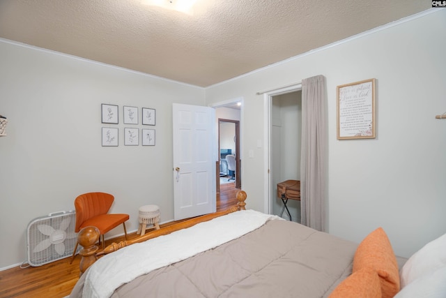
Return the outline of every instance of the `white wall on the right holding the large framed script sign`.
{"type": "Polygon", "coordinates": [[[263,211],[263,119],[258,91],[325,75],[328,90],[328,231],[361,241],[383,227],[409,256],[446,232],[446,10],[314,51],[206,89],[206,103],[243,96],[243,188],[263,211]],[[336,87],[376,78],[373,140],[337,140],[336,87]],[[247,156],[247,155],[246,155],[247,156]]]}

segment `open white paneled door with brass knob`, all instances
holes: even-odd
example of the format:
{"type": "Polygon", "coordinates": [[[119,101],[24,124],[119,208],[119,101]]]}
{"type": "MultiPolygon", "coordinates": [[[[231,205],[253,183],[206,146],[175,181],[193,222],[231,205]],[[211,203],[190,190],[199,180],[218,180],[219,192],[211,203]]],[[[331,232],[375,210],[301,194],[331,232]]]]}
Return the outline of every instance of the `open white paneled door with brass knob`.
{"type": "Polygon", "coordinates": [[[173,105],[174,218],[215,212],[215,110],[173,105]]]}

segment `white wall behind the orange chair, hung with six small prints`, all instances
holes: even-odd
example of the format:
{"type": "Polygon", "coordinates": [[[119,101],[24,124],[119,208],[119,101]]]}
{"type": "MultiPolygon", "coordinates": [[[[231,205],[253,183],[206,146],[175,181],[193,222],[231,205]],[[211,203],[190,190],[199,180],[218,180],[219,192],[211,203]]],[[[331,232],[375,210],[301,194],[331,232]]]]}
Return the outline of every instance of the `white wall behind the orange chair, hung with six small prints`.
{"type": "MultiPolygon", "coordinates": [[[[74,209],[77,195],[115,195],[112,212],[157,204],[174,217],[172,103],[204,104],[204,90],[121,68],[0,40],[0,268],[26,260],[26,226],[38,216],[74,209]],[[101,103],[119,106],[119,124],[101,124],[101,103]],[[123,105],[156,110],[156,125],[123,124],[123,105]],[[119,146],[101,147],[101,128],[119,128],[119,146]],[[155,128],[154,147],[123,145],[125,127],[155,128]]],[[[122,228],[106,237],[122,234],[122,228]]]]}

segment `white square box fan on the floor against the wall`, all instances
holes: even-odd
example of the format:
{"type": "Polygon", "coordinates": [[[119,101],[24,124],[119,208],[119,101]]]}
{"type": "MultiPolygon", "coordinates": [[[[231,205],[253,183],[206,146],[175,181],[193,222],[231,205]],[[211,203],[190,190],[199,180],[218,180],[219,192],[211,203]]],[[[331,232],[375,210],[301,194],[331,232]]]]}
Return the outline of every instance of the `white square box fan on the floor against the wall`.
{"type": "Polygon", "coordinates": [[[75,223],[74,210],[34,218],[26,232],[28,264],[36,267],[71,256],[77,242],[75,223]]]}

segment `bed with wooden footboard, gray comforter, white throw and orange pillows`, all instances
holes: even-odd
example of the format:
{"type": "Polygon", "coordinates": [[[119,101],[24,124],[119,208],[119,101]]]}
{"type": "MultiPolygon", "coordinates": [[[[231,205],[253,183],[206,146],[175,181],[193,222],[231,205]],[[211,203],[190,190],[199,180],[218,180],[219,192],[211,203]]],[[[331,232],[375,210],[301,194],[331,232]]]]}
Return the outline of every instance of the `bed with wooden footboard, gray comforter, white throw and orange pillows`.
{"type": "Polygon", "coordinates": [[[112,244],[99,253],[94,232],[79,232],[84,274],[70,298],[346,298],[403,292],[399,269],[405,260],[394,255],[382,228],[358,245],[245,210],[245,198],[240,191],[237,209],[180,223],[179,230],[170,226],[112,244]]]}

